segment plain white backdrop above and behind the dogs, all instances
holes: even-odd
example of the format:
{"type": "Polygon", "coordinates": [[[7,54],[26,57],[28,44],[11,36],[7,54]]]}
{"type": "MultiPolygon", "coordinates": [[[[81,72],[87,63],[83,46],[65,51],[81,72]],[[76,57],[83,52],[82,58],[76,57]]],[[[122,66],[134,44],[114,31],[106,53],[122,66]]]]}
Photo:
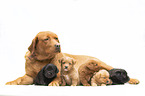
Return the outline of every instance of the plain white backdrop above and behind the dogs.
{"type": "Polygon", "coordinates": [[[47,30],[62,52],[97,57],[145,84],[144,0],[1,0],[0,85],[25,74],[25,52],[47,30]]]}

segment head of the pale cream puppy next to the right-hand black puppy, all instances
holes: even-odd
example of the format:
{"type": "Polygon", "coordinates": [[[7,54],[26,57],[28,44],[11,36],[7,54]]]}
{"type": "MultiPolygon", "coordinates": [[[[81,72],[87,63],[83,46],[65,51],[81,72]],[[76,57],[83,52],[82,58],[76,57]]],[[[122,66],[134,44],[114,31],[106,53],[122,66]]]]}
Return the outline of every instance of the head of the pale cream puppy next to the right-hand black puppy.
{"type": "Polygon", "coordinates": [[[96,80],[101,84],[112,84],[112,81],[109,79],[109,73],[106,70],[97,72],[96,80]]]}

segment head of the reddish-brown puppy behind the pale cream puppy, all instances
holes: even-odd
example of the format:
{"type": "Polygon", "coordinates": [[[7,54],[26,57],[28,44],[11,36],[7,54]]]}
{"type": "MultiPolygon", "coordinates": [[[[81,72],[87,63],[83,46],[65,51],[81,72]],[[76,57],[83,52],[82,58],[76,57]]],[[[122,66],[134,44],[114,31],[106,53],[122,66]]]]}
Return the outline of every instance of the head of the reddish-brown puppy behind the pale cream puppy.
{"type": "Polygon", "coordinates": [[[88,60],[86,62],[86,66],[87,68],[89,68],[90,70],[93,70],[93,71],[99,71],[99,69],[101,68],[100,67],[100,64],[97,62],[97,60],[88,60]]]}

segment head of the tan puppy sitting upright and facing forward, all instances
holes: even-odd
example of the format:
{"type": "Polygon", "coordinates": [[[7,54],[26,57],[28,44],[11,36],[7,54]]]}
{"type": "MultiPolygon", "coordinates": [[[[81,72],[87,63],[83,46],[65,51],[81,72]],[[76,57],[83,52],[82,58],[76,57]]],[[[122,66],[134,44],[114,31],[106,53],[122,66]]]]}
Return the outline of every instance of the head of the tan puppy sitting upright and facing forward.
{"type": "Polygon", "coordinates": [[[61,63],[61,67],[63,71],[70,71],[73,68],[76,61],[70,57],[62,57],[59,60],[59,63],[61,63]]]}

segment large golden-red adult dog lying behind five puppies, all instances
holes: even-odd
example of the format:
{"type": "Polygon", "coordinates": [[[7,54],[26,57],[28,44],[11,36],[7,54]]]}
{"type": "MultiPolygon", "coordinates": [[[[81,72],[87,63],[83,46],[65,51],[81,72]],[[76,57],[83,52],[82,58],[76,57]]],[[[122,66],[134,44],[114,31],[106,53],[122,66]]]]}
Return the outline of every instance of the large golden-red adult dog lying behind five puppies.
{"type": "MultiPolygon", "coordinates": [[[[70,55],[61,53],[58,36],[50,31],[39,32],[33,39],[31,45],[25,54],[25,71],[26,74],[17,78],[14,81],[7,82],[6,85],[26,85],[33,84],[33,79],[38,72],[48,63],[52,63],[61,70],[61,64],[58,62],[63,56],[68,56],[76,60],[75,68],[78,70],[81,64],[84,64],[89,59],[96,59],[101,66],[106,70],[111,70],[113,67],[106,65],[97,58],[84,55],[70,55]]],[[[49,84],[49,86],[59,86],[60,72],[57,77],[49,84]]],[[[130,79],[131,84],[136,84],[138,80],[130,79]]]]}

